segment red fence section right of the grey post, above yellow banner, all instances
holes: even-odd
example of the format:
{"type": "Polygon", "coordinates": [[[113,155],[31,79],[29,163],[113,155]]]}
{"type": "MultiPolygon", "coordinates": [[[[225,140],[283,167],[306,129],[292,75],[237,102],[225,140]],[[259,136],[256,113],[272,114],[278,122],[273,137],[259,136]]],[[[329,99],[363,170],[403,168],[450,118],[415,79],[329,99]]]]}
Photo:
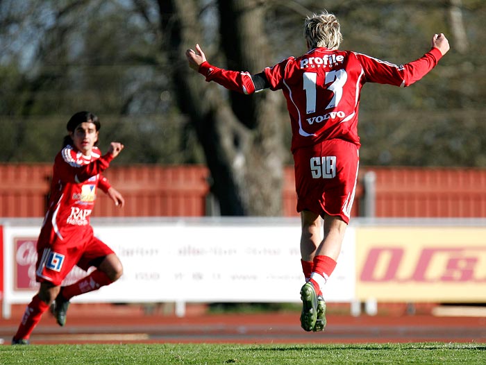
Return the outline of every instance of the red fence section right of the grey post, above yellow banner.
{"type": "Polygon", "coordinates": [[[368,169],[377,217],[486,217],[486,169],[368,169]]]}

